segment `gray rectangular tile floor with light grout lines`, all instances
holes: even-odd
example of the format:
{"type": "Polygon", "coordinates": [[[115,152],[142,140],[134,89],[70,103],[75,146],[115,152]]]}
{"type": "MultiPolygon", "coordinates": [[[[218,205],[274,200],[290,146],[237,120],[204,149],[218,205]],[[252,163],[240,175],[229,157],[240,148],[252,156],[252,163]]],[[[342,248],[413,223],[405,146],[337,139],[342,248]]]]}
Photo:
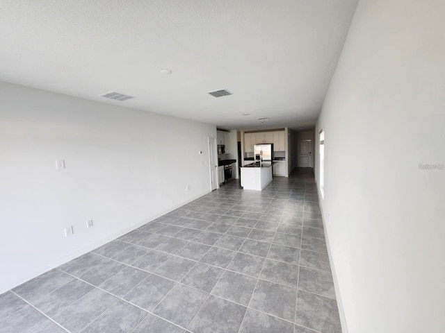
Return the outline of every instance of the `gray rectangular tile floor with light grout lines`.
{"type": "Polygon", "coordinates": [[[314,178],[232,182],[7,291],[0,332],[341,332],[314,178]]]}

